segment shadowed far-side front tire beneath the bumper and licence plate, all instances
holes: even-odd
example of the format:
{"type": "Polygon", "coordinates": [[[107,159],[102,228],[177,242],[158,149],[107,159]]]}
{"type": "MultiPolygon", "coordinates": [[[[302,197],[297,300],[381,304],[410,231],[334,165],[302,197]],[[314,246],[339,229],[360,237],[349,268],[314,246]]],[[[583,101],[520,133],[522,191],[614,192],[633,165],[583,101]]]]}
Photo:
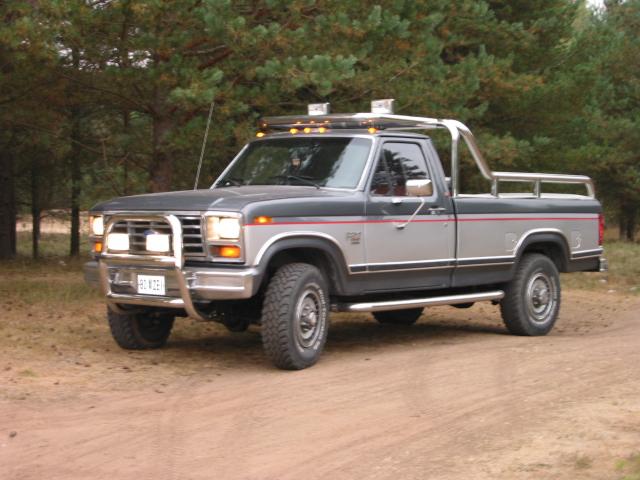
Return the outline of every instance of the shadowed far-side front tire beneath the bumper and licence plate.
{"type": "Polygon", "coordinates": [[[173,328],[174,317],[153,313],[116,313],[107,309],[111,335],[127,350],[163,347],[173,328]]]}

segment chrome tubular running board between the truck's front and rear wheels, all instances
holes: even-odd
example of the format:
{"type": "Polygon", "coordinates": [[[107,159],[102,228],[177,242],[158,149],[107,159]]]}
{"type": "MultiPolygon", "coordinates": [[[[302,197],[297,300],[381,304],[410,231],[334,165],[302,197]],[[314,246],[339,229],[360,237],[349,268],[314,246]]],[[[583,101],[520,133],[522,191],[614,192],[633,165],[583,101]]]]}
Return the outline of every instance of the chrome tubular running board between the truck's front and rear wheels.
{"type": "Polygon", "coordinates": [[[502,290],[483,293],[465,293],[463,295],[444,295],[442,297],[410,298],[390,300],[386,302],[341,303],[337,305],[339,312],[384,312],[388,310],[405,310],[408,308],[424,308],[436,305],[456,305],[459,303],[486,302],[500,300],[504,297],[502,290]]]}

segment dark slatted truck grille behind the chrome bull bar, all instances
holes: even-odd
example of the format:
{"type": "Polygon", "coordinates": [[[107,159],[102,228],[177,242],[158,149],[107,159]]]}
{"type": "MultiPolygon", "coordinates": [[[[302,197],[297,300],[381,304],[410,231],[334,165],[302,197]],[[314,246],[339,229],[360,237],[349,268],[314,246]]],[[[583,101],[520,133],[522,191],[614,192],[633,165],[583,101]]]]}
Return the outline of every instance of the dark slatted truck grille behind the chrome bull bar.
{"type": "MultiPolygon", "coordinates": [[[[187,258],[204,257],[206,255],[202,241],[202,224],[200,217],[180,216],[182,224],[182,250],[187,258]]],[[[114,233],[129,234],[129,252],[137,255],[157,255],[147,250],[145,232],[152,230],[156,233],[171,237],[171,226],[163,220],[120,220],[112,229],[114,233]]],[[[171,240],[173,240],[171,238],[171,240]]]]}

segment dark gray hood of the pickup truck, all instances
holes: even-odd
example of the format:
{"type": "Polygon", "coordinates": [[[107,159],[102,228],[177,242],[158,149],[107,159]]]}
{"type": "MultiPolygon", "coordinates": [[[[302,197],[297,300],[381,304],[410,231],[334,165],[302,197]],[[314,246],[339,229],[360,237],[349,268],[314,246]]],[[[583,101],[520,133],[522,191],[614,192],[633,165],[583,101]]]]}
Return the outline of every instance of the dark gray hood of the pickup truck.
{"type": "Polygon", "coordinates": [[[294,198],[339,198],[352,195],[353,192],[349,191],[287,185],[224,187],[119,197],[99,203],[91,211],[240,211],[256,202],[294,198]]]}

